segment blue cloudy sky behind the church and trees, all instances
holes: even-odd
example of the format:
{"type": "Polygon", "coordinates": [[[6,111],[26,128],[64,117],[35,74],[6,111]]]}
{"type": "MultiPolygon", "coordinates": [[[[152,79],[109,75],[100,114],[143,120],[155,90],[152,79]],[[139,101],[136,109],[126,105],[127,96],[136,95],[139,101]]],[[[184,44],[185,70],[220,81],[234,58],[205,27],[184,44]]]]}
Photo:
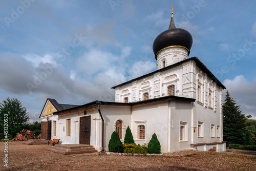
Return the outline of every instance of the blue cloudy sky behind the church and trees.
{"type": "Polygon", "coordinates": [[[0,101],[20,100],[31,122],[47,98],[114,101],[111,87],[156,70],[152,45],[172,4],[176,27],[193,36],[189,57],[256,119],[256,1],[2,0],[0,101]]]}

